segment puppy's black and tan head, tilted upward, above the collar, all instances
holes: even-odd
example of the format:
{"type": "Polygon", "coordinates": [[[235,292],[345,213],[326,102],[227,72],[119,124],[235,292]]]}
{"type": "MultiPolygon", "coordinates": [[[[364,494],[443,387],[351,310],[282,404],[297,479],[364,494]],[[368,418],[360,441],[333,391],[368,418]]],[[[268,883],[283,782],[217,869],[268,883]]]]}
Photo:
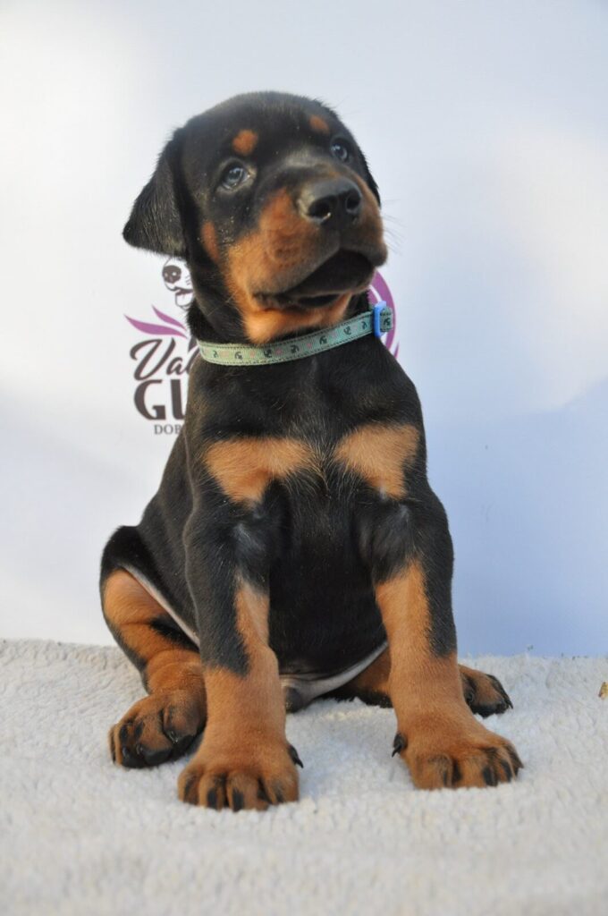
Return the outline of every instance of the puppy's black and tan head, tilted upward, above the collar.
{"type": "Polygon", "coordinates": [[[252,93],[176,131],[124,234],[185,259],[192,308],[257,344],[342,320],[385,261],[379,202],[331,109],[252,93]]]}

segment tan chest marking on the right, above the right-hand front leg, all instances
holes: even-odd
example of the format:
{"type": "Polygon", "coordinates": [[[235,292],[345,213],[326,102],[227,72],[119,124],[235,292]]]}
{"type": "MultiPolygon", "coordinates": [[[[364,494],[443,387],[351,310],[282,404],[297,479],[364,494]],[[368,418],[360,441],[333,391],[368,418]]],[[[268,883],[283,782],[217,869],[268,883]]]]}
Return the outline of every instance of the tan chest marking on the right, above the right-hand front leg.
{"type": "Polygon", "coordinates": [[[410,423],[367,423],[339,442],[334,457],[375,490],[398,499],[406,495],[404,472],[416,458],[419,438],[410,423]]]}

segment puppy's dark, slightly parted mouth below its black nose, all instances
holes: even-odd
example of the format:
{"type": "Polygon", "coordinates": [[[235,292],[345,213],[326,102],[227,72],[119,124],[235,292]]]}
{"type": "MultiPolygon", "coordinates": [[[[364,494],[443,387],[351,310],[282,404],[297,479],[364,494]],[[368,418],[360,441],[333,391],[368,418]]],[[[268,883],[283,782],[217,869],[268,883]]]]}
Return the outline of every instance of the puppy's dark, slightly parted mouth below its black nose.
{"type": "Polygon", "coordinates": [[[342,249],[296,286],[281,292],[258,293],[265,309],[319,309],[331,305],[345,293],[363,292],[375,273],[370,259],[359,252],[342,249]]]}

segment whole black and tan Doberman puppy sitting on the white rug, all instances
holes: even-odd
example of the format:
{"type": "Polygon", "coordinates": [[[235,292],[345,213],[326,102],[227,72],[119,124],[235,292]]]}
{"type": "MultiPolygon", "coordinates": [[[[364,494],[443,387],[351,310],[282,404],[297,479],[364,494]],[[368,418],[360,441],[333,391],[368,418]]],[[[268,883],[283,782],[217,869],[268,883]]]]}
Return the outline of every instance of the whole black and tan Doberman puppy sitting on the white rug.
{"type": "MultiPolygon", "coordinates": [[[[386,256],[353,136],[279,93],[178,130],[125,239],[188,262],[190,328],[218,347],[329,333],[369,310],[386,256]]],[[[473,716],[510,702],[459,668],[451,571],[416,389],[376,336],[272,365],[197,360],[157,495],[103,553],[103,613],[149,694],[111,730],[114,760],[154,766],[204,729],[184,801],[293,801],[286,705],[331,692],[394,706],[419,787],[510,780],[516,751],[473,716]]]]}

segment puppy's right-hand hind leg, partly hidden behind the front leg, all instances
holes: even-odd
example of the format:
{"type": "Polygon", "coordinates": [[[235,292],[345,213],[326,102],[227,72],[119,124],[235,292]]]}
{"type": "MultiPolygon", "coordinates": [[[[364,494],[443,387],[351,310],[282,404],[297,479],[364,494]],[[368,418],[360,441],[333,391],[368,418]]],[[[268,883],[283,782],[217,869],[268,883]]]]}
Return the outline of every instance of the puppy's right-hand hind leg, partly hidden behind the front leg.
{"type": "MultiPolygon", "coordinates": [[[[475,671],[465,665],[459,665],[462,691],[472,713],[485,718],[488,715],[501,714],[513,709],[505,688],[492,674],[475,671]]],[[[353,681],[344,684],[333,696],[340,700],[353,700],[355,697],[373,706],[392,706],[388,692],[388,678],[391,663],[388,649],[375,659],[369,668],[357,674],[353,681]]]]}

